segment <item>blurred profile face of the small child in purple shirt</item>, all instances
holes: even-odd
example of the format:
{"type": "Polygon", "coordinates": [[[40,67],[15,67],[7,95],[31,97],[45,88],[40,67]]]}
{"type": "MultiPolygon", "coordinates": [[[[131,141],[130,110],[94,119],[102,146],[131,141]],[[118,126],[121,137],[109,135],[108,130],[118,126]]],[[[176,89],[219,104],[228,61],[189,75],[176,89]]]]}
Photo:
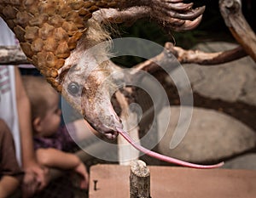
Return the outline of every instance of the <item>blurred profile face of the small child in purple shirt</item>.
{"type": "Polygon", "coordinates": [[[49,137],[55,134],[61,123],[61,110],[59,109],[59,96],[49,97],[49,108],[46,110],[46,115],[42,119],[41,135],[49,137]]]}

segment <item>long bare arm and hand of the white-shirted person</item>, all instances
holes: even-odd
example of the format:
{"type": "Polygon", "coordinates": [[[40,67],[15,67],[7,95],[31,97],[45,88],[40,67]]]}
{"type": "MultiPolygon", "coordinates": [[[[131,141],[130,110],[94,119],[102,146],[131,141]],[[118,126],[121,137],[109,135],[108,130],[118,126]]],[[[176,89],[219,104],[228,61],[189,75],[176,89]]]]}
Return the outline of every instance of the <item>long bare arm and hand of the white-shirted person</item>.
{"type": "MultiPolygon", "coordinates": [[[[36,188],[38,190],[43,189],[46,182],[46,169],[43,169],[39,166],[36,161],[35,152],[33,149],[32,142],[32,119],[31,119],[31,107],[29,99],[26,95],[25,88],[20,76],[20,71],[18,67],[15,67],[15,88],[16,88],[16,101],[17,101],[17,110],[20,124],[20,143],[21,143],[21,159],[22,166],[26,175],[35,175],[38,181],[38,184],[35,188],[31,188],[32,185],[35,185],[34,178],[26,177],[25,175],[25,184],[27,184],[30,190],[34,191],[36,188]]],[[[31,192],[33,193],[33,192],[31,192]]]]}

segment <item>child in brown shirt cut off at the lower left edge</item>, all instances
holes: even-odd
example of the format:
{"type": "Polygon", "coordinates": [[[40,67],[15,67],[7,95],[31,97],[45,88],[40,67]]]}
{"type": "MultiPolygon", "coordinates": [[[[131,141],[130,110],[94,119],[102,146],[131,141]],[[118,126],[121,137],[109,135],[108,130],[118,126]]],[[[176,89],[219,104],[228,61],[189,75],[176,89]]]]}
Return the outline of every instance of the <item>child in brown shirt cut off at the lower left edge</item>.
{"type": "Polygon", "coordinates": [[[22,180],[22,171],[15,156],[15,144],[9,127],[0,119],[0,197],[15,193],[22,180]]]}

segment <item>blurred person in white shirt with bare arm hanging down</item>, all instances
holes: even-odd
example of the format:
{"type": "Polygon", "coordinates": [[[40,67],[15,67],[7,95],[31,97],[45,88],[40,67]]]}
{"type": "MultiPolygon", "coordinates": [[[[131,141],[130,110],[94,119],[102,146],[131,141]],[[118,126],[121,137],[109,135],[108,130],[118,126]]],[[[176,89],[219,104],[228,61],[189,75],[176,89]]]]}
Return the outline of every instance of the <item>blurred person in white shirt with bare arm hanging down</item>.
{"type": "MultiPolygon", "coordinates": [[[[0,18],[0,45],[16,45],[15,35],[0,18]]],[[[47,184],[47,169],[39,166],[33,151],[30,104],[20,71],[14,65],[0,66],[0,118],[15,140],[16,158],[25,171],[23,197],[30,197],[47,184]]],[[[2,128],[0,128],[2,130],[2,128]]]]}

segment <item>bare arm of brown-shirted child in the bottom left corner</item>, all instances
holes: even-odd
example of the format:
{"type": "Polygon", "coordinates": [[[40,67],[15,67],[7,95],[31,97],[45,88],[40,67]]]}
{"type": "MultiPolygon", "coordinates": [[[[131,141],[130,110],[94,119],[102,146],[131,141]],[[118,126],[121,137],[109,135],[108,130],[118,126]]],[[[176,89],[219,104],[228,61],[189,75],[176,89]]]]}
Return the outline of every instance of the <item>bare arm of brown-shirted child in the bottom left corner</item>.
{"type": "Polygon", "coordinates": [[[3,176],[0,179],[0,197],[9,197],[18,188],[20,182],[17,178],[11,176],[3,176]]]}

